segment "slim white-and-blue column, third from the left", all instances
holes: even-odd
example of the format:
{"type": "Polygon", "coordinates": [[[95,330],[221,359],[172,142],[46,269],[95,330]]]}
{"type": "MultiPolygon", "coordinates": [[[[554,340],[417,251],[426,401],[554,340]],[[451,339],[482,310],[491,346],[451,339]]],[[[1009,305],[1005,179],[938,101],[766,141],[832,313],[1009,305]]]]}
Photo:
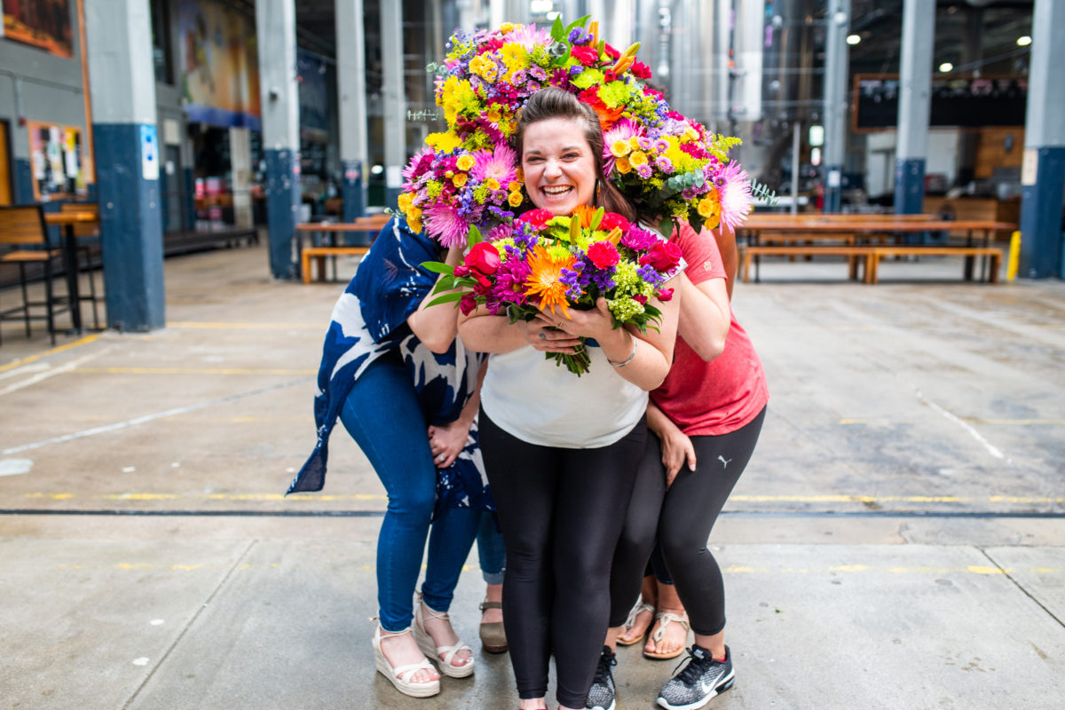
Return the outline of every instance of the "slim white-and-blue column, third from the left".
{"type": "Polygon", "coordinates": [[[353,221],[366,212],[368,141],[364,21],[362,0],[337,0],[337,95],[340,97],[344,221],[353,221]]]}

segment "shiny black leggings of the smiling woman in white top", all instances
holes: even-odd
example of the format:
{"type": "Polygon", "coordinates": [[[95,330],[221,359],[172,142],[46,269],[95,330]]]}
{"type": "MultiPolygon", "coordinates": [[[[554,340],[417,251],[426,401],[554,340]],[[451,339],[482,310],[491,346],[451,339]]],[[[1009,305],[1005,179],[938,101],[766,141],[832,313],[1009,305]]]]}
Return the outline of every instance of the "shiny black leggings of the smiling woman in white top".
{"type": "Polygon", "coordinates": [[[480,413],[480,449],[507,548],[503,618],[518,693],[584,708],[610,613],[610,556],[648,435],[594,449],[537,446],[480,413]]]}

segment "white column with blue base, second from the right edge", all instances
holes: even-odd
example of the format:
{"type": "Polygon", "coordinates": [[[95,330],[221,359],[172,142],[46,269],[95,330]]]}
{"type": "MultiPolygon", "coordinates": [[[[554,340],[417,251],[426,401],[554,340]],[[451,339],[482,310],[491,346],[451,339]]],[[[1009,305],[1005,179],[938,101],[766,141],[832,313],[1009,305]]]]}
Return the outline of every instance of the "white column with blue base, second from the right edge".
{"type": "Polygon", "coordinates": [[[924,208],[934,40],[935,0],[906,0],[899,71],[899,145],[895,153],[896,214],[920,214],[924,208]]]}

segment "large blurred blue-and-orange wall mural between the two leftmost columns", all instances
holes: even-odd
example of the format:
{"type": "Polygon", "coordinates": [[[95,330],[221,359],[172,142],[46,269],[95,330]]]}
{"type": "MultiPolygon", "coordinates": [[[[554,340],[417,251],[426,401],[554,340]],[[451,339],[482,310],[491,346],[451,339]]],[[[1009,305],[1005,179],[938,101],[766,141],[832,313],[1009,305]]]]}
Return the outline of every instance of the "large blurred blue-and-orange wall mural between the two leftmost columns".
{"type": "Polygon", "coordinates": [[[178,9],[181,94],[192,121],[260,130],[259,59],[250,18],[212,0],[178,9]]]}

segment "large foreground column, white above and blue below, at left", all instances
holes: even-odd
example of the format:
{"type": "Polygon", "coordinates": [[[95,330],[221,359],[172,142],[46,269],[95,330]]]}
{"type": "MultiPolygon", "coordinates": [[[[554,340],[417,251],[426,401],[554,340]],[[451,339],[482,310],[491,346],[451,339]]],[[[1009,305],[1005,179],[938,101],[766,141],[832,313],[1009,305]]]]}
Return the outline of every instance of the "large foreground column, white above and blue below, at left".
{"type": "Polygon", "coordinates": [[[166,325],[151,21],[144,0],[85,3],[108,325],[166,325]]]}

